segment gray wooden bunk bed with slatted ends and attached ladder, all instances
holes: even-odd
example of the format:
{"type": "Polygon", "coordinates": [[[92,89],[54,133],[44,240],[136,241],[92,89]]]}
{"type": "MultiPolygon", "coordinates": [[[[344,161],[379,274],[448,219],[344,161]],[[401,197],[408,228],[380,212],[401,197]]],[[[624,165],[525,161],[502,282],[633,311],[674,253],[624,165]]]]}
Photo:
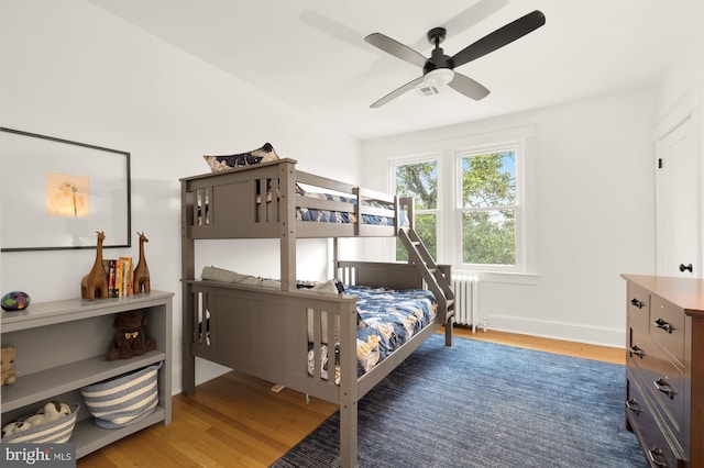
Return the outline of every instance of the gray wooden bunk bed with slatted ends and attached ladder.
{"type": "Polygon", "coordinates": [[[196,390],[199,357],[339,404],[340,464],[355,466],[356,402],[443,325],[446,345],[452,344],[450,268],[437,265],[415,233],[413,200],[296,170],[294,159],[180,182],[184,393],[196,390]],[[403,241],[408,263],[339,258],[340,237],[392,236],[403,241]],[[298,288],[296,239],[312,237],[333,238],[334,271],[343,283],[422,289],[435,298],[427,325],[364,372],[358,360],[359,298],[298,288]],[[278,238],[276,287],[197,279],[195,242],[213,238],[278,238]],[[336,344],[336,379],[322,365],[333,361],[329,342],[336,344]]]}

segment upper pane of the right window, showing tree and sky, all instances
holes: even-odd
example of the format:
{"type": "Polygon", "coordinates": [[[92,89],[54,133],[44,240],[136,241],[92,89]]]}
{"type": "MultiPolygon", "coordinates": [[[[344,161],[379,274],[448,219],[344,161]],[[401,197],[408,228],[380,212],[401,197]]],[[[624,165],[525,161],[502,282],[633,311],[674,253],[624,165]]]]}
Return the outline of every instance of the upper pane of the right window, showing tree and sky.
{"type": "Polygon", "coordinates": [[[462,158],[462,207],[516,203],[516,153],[507,151],[462,158]]]}

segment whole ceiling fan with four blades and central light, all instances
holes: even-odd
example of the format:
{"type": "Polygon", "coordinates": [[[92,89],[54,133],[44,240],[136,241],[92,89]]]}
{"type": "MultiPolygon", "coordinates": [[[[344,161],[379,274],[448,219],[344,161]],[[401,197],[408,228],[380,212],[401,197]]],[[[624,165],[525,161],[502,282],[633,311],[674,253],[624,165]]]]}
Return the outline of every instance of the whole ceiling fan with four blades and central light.
{"type": "Polygon", "coordinates": [[[440,47],[440,44],[444,41],[447,34],[444,27],[433,27],[428,31],[428,42],[435,45],[435,48],[428,58],[382,33],[370,34],[364,37],[364,41],[397,58],[400,58],[402,60],[418,65],[422,68],[422,76],[407,82],[400,88],[395,89],[370,107],[382,107],[388,101],[398,98],[406,91],[422,85],[431,87],[447,85],[468,98],[479,101],[480,99],[485,98],[490,93],[490,90],[472,78],[454,71],[454,68],[510,44],[512,42],[542,26],[544,23],[544,14],[538,10],[532,11],[466,46],[452,57],[446,55],[442,47],[440,47]]]}

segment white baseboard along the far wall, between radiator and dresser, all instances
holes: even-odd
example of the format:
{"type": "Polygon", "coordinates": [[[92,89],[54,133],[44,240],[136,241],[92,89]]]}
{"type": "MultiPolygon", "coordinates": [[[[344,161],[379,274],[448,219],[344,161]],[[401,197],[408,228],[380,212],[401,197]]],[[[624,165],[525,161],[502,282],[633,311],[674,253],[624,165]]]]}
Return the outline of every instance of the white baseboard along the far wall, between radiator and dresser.
{"type": "Polygon", "coordinates": [[[625,348],[626,330],[585,324],[530,320],[508,315],[487,315],[487,328],[498,332],[563,339],[590,345],[625,348]]]}

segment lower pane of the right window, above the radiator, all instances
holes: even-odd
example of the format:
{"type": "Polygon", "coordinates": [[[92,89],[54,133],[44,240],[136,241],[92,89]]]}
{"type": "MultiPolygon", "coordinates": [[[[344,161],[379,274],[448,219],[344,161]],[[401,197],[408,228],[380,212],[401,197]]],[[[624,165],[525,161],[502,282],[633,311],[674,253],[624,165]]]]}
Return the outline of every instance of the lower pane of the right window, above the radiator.
{"type": "Polygon", "coordinates": [[[516,265],[514,210],[462,213],[462,263],[516,265]]]}

